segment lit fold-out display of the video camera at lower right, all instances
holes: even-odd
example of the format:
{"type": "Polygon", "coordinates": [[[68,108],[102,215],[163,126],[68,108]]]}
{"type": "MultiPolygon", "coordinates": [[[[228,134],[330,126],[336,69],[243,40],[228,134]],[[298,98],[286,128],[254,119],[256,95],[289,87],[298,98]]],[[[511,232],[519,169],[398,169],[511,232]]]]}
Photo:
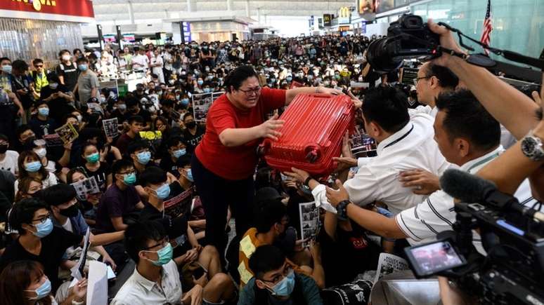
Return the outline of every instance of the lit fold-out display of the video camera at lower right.
{"type": "Polygon", "coordinates": [[[411,256],[417,263],[417,269],[423,274],[431,274],[452,269],[465,264],[448,241],[440,241],[410,249],[411,256]]]}

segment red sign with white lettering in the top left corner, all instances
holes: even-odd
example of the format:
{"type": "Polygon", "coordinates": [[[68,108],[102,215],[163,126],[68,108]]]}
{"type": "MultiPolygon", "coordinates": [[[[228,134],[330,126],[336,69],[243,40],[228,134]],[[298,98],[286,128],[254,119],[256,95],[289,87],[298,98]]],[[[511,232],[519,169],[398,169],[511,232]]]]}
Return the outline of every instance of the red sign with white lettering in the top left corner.
{"type": "Polygon", "coordinates": [[[0,17],[93,22],[91,0],[0,0],[0,17]]]}

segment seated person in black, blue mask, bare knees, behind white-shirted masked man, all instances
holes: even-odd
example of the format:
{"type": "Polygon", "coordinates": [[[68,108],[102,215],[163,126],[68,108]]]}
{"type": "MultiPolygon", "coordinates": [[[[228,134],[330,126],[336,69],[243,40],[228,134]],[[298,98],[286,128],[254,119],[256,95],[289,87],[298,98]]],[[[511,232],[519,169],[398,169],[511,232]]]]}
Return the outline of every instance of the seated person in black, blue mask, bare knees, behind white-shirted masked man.
{"type": "Polygon", "coordinates": [[[148,168],[142,174],[142,182],[145,191],[149,194],[149,200],[145,203],[145,208],[140,214],[140,221],[157,220],[167,229],[169,236],[176,240],[176,257],[174,258],[176,264],[183,265],[196,261],[208,271],[210,279],[221,272],[219,252],[212,245],[202,248],[195,237],[195,233],[187,225],[187,217],[185,215],[171,216],[166,214],[164,199],[171,197],[166,172],[160,168],[148,168]],[[179,218],[183,218],[183,220],[179,218]],[[171,231],[169,229],[171,219],[178,219],[178,223],[183,222],[181,229],[171,231]],[[186,243],[186,240],[188,240],[188,243],[186,243]]]}

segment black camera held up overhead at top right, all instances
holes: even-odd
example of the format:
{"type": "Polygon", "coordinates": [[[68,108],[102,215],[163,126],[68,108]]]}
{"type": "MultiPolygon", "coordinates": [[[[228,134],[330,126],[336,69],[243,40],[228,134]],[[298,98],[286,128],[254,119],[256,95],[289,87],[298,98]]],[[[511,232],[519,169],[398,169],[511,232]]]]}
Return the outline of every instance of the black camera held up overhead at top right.
{"type": "Polygon", "coordinates": [[[405,59],[440,57],[439,46],[440,36],[431,32],[420,16],[405,14],[391,22],[386,37],[370,43],[366,56],[376,71],[391,72],[399,69],[405,59]]]}

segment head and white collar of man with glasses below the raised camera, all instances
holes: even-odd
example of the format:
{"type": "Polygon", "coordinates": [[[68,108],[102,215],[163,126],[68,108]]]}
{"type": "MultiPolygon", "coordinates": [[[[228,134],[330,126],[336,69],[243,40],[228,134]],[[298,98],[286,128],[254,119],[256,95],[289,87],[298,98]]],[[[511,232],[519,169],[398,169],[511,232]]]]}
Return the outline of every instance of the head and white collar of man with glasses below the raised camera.
{"type": "Polygon", "coordinates": [[[429,114],[433,118],[436,116],[436,97],[440,93],[455,90],[459,84],[459,79],[450,69],[435,65],[431,62],[425,62],[417,71],[417,78],[414,79],[415,90],[417,92],[417,102],[424,104],[415,109],[408,110],[410,116],[413,114],[429,114]]]}

